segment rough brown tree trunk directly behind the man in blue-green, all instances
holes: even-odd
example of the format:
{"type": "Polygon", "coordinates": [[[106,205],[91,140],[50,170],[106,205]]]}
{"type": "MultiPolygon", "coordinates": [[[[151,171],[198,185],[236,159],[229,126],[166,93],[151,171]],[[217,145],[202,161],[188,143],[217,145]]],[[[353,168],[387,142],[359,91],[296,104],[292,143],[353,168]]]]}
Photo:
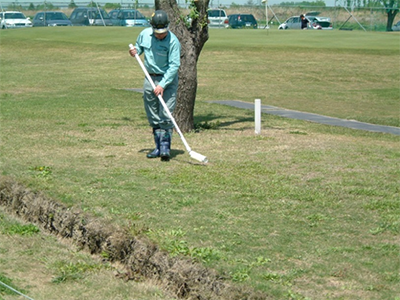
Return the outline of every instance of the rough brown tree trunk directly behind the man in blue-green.
{"type": "Polygon", "coordinates": [[[170,30],[181,43],[181,67],[174,118],[182,132],[194,129],[194,105],[197,92],[197,61],[204,44],[208,40],[208,27],[199,20],[206,20],[209,0],[193,1],[199,18],[193,19],[188,27],[176,0],[155,0],[155,7],[168,14],[170,30]],[[202,26],[202,24],[203,26],[202,26]]]}

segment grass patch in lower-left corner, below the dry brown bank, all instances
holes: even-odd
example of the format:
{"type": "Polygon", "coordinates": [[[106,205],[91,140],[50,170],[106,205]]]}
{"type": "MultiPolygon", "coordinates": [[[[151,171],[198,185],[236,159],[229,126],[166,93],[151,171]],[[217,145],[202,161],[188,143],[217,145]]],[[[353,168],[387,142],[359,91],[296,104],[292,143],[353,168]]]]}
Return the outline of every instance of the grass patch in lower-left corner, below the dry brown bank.
{"type": "MultiPolygon", "coordinates": [[[[11,234],[4,230],[10,226],[24,225],[0,213],[0,281],[32,299],[131,299],[132,294],[143,300],[172,299],[149,282],[116,279],[118,266],[73,245],[45,234],[11,234]]],[[[0,285],[0,299],[16,297],[0,285]]]]}

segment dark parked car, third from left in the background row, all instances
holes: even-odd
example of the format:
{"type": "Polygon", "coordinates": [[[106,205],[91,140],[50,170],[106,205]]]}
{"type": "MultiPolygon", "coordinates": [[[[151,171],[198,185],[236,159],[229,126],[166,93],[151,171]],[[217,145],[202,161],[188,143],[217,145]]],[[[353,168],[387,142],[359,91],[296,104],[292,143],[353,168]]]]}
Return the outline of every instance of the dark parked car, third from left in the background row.
{"type": "Polygon", "coordinates": [[[97,7],[77,7],[69,19],[74,26],[112,26],[108,13],[97,7]]]}

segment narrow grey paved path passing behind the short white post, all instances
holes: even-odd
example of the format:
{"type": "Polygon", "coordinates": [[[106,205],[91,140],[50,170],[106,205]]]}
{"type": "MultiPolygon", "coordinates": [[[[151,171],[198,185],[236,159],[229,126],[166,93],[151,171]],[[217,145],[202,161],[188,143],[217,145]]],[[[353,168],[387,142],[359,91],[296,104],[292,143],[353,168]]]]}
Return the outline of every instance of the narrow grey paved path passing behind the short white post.
{"type": "MultiPolygon", "coordinates": [[[[209,103],[218,103],[228,106],[233,106],[237,108],[250,109],[254,110],[254,103],[236,101],[236,100],[216,100],[216,101],[208,101],[209,103]]],[[[342,120],[327,116],[321,116],[317,114],[304,113],[295,110],[283,109],[270,105],[261,105],[261,112],[266,114],[271,114],[275,116],[281,116],[285,118],[297,119],[297,120],[306,120],[315,123],[321,123],[332,126],[342,126],[348,127],[352,129],[373,131],[373,132],[383,132],[390,133],[395,135],[400,135],[400,128],[393,126],[383,126],[383,125],[374,125],[369,123],[363,123],[353,120],[342,120]]]]}

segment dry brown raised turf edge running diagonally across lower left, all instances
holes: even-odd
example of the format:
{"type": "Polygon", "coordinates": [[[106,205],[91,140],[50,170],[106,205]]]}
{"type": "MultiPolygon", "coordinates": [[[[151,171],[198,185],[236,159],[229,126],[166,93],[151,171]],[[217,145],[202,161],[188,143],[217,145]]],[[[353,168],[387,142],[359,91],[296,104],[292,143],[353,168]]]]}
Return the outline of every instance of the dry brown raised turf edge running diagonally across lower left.
{"type": "Polygon", "coordinates": [[[237,287],[214,270],[185,257],[171,257],[145,238],[127,234],[104,220],[67,208],[32,192],[18,182],[0,177],[0,205],[4,210],[42,230],[72,240],[91,254],[106,253],[111,262],[126,267],[125,279],[146,278],[180,299],[267,299],[237,287]]]}

